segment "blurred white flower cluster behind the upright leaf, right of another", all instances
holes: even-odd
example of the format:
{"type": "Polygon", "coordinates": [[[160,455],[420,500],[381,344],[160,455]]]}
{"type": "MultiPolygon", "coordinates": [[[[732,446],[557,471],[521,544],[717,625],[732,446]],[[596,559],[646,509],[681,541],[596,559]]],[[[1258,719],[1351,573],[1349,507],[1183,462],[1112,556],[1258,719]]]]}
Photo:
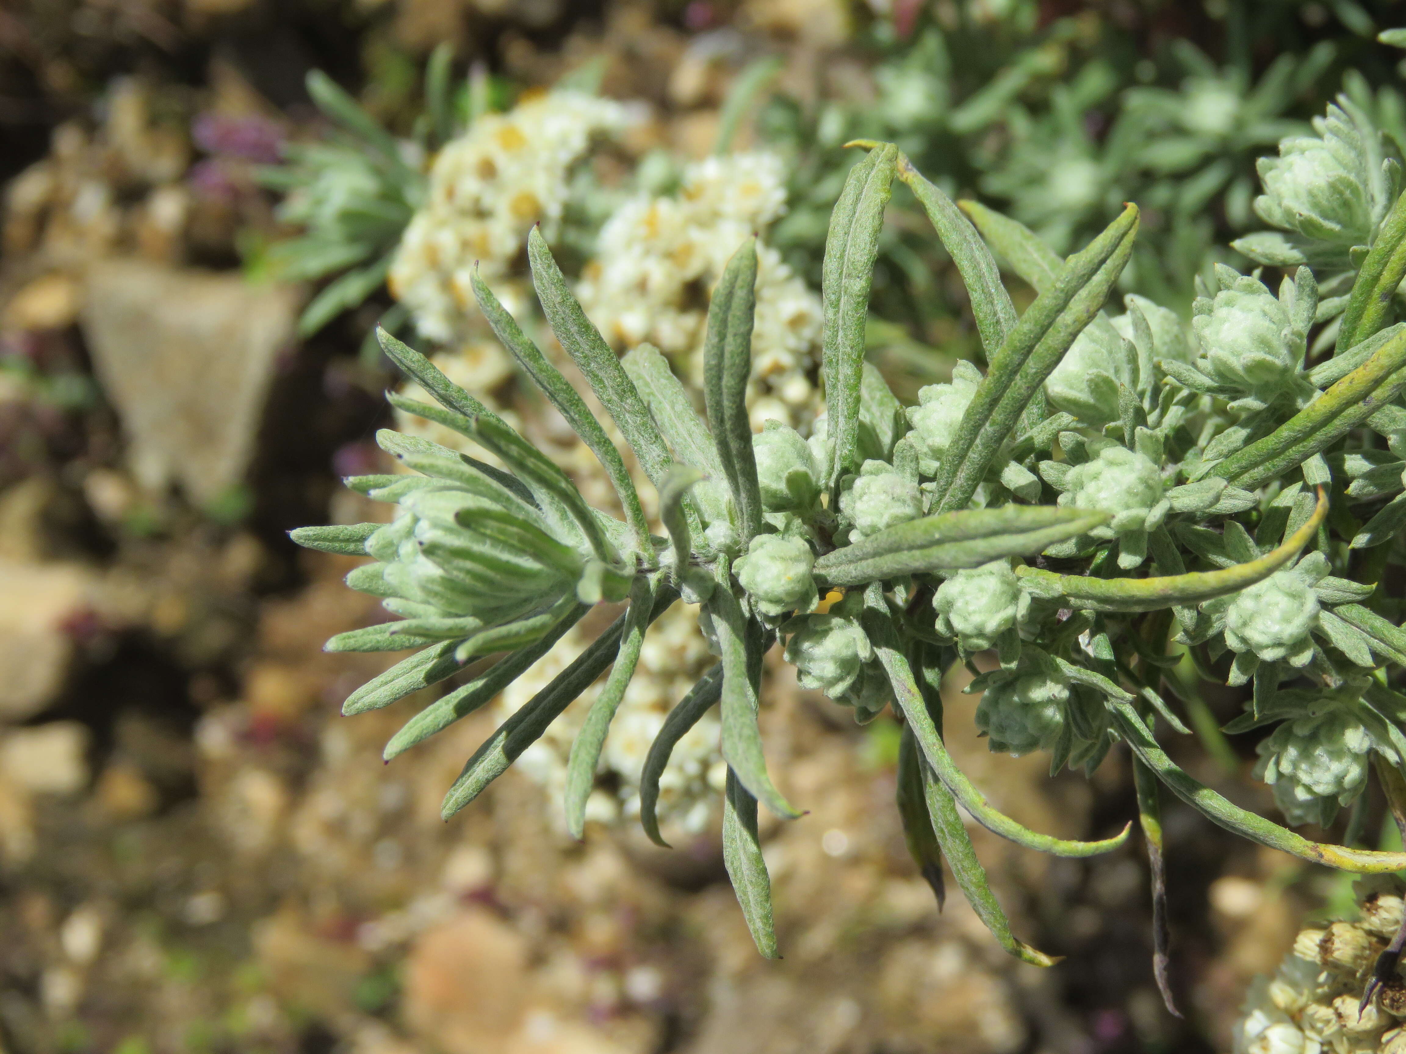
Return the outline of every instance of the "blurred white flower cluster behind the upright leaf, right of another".
{"type": "MultiPolygon", "coordinates": [[[[786,211],[785,164],[772,153],[709,157],[683,171],[673,197],[640,195],[606,221],[578,288],[582,306],[617,349],[644,341],[685,357],[703,377],[709,294],[751,235],[786,211]]],[[[789,424],[814,401],[820,297],[776,249],[756,246],[756,322],[748,408],[755,427],[789,424]]]]}

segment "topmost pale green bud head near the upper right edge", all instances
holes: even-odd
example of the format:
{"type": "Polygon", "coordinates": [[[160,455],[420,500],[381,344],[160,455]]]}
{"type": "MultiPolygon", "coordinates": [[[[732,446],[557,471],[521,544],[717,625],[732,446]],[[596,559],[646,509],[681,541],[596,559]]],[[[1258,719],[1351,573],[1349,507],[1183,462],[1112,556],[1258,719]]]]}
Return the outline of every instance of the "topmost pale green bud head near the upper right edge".
{"type": "Polygon", "coordinates": [[[1372,236],[1371,176],[1361,131],[1337,105],[1313,118],[1317,136],[1279,141],[1278,157],[1257,167],[1264,194],[1254,211],[1267,223],[1319,242],[1348,247],[1372,236]]]}

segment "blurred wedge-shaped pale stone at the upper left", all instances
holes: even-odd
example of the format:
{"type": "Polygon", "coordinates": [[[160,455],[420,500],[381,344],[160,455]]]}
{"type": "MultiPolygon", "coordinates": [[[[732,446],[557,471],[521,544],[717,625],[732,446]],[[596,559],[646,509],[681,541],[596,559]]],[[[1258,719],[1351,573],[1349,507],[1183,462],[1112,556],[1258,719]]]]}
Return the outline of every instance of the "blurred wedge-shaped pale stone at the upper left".
{"type": "Polygon", "coordinates": [[[134,260],[91,268],[83,332],[142,486],[177,482],[205,505],[243,478],[297,311],[294,289],[238,274],[134,260]]]}

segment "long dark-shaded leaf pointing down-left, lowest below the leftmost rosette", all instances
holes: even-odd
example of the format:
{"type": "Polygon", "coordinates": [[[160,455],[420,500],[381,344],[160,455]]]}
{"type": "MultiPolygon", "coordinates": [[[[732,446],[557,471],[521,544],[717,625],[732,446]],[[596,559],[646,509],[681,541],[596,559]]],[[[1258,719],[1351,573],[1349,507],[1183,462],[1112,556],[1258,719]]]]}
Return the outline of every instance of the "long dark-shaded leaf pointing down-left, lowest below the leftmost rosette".
{"type": "MultiPolygon", "coordinates": [[[[650,611],[650,621],[654,623],[678,599],[678,590],[661,586],[654,600],[654,610],[650,611]]],[[[454,780],[454,786],[449,788],[449,794],[444,795],[444,804],[440,808],[440,815],[444,819],[449,819],[464,808],[482,794],[488,784],[508,772],[508,766],[541,738],[547,727],[561,715],[561,711],[591,687],[596,677],[605,672],[606,666],[614,662],[627,617],[628,613],[616,618],[547,687],[533,696],[522,710],[503,721],[484,741],[474,752],[474,756],[464,765],[464,772],[454,780]]]]}

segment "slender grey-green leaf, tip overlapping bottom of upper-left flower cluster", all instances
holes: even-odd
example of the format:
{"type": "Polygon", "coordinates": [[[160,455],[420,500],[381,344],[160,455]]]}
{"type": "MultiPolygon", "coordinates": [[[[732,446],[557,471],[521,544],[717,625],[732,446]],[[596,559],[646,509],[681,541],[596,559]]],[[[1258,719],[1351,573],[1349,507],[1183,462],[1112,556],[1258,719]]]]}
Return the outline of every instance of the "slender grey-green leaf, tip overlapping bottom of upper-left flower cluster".
{"type": "MultiPolygon", "coordinates": [[[[550,254],[548,254],[550,259],[550,254]]],[[[553,264],[555,267],[555,264],[553,264]]],[[[561,274],[558,273],[560,278],[561,274]]],[[[546,284],[546,282],[543,282],[546,284]]],[[[581,441],[591,447],[591,451],[596,455],[596,460],[605,467],[606,475],[610,476],[610,483],[614,486],[616,493],[620,496],[620,505],[624,509],[626,520],[630,523],[630,528],[634,534],[634,547],[637,552],[652,552],[650,545],[650,524],[644,517],[644,506],[640,505],[640,495],[634,489],[634,481],[630,479],[630,472],[624,467],[624,458],[620,457],[620,451],[610,437],[606,436],[605,427],[596,420],[596,415],[591,412],[586,406],[586,401],[581,398],[581,392],[571,386],[571,382],[561,375],[561,371],[547,361],[547,356],[541,353],[527,334],[523,333],[522,326],[517,325],[515,319],[498,298],[494,291],[488,288],[488,284],[478,277],[478,268],[474,268],[472,275],[474,297],[478,298],[478,306],[484,312],[484,318],[488,319],[488,325],[494,327],[494,333],[498,334],[498,340],[506,347],[517,364],[527,371],[527,375],[537,382],[543,393],[551,401],[551,405],[557,408],[567,423],[571,424],[572,431],[575,431],[581,441]]],[[[540,292],[540,289],[538,289],[540,292]]],[[[569,292],[567,294],[571,295],[569,292]]],[[[575,301],[572,301],[575,302],[575,301]]],[[[543,301],[546,305],[546,301],[543,301]]],[[[557,304],[560,309],[561,305],[557,304]]],[[[581,306],[576,305],[576,312],[581,313],[581,306]]],[[[582,322],[586,322],[586,316],[581,313],[582,322]]],[[[569,332],[567,323],[562,323],[558,333],[569,332]]],[[[571,333],[574,337],[579,337],[579,333],[571,333]]],[[[596,334],[599,340],[599,333],[596,334]]],[[[610,349],[606,349],[606,354],[610,360],[616,363],[619,370],[619,361],[610,349]]],[[[620,371],[620,379],[627,385],[630,378],[620,371]]],[[[634,386],[631,385],[631,391],[634,386]]],[[[643,406],[640,408],[643,413],[643,406]]],[[[648,415],[643,415],[645,419],[648,415]]],[[[648,423],[648,420],[645,420],[648,423]]],[[[659,447],[664,445],[664,440],[659,440],[659,447]]],[[[499,455],[502,457],[502,455],[499,455]]]]}

